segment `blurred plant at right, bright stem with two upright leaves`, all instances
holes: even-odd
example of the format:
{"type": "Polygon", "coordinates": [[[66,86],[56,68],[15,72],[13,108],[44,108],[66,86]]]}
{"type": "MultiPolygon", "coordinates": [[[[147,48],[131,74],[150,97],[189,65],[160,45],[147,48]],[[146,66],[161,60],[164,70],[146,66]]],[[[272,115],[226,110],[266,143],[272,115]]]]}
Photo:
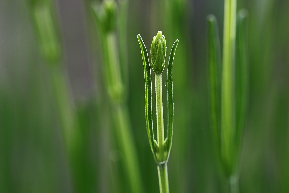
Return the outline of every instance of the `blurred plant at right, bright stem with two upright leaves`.
{"type": "Polygon", "coordinates": [[[222,59],[217,19],[207,17],[212,133],[224,187],[230,192],[239,192],[248,105],[247,17],[245,9],[236,14],[236,1],[225,1],[222,59]]]}

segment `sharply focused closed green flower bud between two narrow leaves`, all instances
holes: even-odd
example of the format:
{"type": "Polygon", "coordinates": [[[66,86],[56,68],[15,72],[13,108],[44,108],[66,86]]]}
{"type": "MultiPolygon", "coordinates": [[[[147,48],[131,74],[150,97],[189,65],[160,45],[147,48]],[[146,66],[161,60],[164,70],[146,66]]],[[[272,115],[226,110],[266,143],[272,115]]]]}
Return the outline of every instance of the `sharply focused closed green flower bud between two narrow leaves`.
{"type": "Polygon", "coordinates": [[[151,43],[151,65],[157,75],[164,71],[165,58],[166,38],[162,35],[162,31],[158,31],[157,36],[153,37],[153,42],[151,43]]]}

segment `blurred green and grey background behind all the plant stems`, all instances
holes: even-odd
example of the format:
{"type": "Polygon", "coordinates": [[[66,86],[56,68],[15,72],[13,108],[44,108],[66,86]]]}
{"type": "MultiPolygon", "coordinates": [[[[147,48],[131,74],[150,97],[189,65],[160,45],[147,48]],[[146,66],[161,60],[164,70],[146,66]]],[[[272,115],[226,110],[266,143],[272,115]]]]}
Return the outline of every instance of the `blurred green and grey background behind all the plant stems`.
{"type": "MultiPolygon", "coordinates": [[[[61,76],[70,94],[66,99],[80,128],[83,147],[77,167],[81,174],[72,177],[53,80],[39,51],[30,4],[1,0],[0,192],[130,192],[123,153],[112,129],[101,43],[90,1],[51,1],[62,45],[61,76]],[[85,191],[76,190],[78,181],[85,191]]],[[[250,70],[240,192],[289,192],[289,1],[237,2],[237,10],[249,11],[250,70]]],[[[146,131],[144,69],[137,34],[149,52],[158,30],[166,36],[168,50],[179,39],[173,67],[170,190],[222,192],[210,129],[206,16],[216,15],[222,40],[223,11],[224,1],[215,0],[128,2],[126,104],[144,192],[159,192],[159,188],[146,131]]],[[[166,112],[164,97],[165,124],[166,112]]]]}

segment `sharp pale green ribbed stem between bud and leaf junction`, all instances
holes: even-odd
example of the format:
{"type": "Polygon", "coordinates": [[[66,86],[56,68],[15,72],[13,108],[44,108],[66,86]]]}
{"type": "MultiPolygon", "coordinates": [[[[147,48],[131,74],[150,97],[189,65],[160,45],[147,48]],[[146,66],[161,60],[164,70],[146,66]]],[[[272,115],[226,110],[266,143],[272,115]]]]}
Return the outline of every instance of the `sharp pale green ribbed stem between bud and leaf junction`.
{"type": "MultiPolygon", "coordinates": [[[[160,152],[163,152],[164,146],[164,115],[163,115],[163,107],[162,107],[162,75],[155,74],[155,100],[156,100],[156,108],[157,108],[157,130],[158,130],[158,146],[160,148],[160,152]]],[[[164,159],[164,154],[160,154],[160,159],[164,159]]]]}

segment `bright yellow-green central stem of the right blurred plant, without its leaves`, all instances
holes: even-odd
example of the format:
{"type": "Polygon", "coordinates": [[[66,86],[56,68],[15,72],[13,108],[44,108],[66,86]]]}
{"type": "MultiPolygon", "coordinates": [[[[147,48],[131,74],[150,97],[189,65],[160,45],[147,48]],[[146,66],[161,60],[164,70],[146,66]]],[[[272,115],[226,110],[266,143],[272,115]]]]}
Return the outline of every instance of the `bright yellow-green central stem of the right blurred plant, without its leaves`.
{"type": "Polygon", "coordinates": [[[223,36],[223,72],[221,104],[221,148],[227,169],[232,165],[232,143],[234,136],[234,61],[236,41],[236,0],[225,0],[224,36],[223,36]]]}

